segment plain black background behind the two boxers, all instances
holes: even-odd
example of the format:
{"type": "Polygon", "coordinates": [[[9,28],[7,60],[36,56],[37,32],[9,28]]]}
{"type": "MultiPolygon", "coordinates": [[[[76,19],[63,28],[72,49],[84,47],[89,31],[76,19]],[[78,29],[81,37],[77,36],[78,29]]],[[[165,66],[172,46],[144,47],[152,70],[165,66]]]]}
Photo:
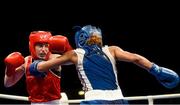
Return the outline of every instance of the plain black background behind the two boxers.
{"type": "MultiPolygon", "coordinates": [[[[11,2],[11,4],[13,4],[11,2]]],[[[27,3],[28,4],[28,3],[27,3]]],[[[4,58],[19,51],[29,55],[28,36],[34,30],[49,30],[54,35],[68,37],[74,44],[73,26],[95,25],[102,29],[104,45],[117,45],[124,50],[138,53],[160,66],[171,68],[180,74],[179,68],[179,7],[176,3],[141,3],[71,5],[32,3],[31,5],[9,5],[1,9],[0,42],[0,93],[28,96],[25,77],[10,88],[3,86],[4,58]]],[[[118,78],[124,96],[146,96],[179,93],[180,86],[166,89],[147,71],[138,66],[117,62],[118,78]]],[[[80,99],[81,84],[75,66],[63,66],[62,91],[69,99],[80,99]]],[[[27,103],[0,99],[0,103],[27,103]]],[[[161,100],[157,103],[180,103],[178,99],[161,100]]]]}

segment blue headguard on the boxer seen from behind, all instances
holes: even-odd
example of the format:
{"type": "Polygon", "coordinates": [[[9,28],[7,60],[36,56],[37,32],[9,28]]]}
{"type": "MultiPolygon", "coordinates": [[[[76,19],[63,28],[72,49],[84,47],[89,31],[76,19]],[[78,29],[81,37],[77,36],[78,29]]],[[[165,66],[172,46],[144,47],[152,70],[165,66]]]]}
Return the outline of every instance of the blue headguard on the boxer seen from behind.
{"type": "MultiPolygon", "coordinates": [[[[77,28],[77,27],[76,27],[77,28]]],[[[86,44],[87,39],[93,34],[97,33],[99,37],[102,38],[102,33],[100,28],[96,28],[91,25],[86,25],[75,33],[75,43],[77,48],[81,48],[86,44]]]]}

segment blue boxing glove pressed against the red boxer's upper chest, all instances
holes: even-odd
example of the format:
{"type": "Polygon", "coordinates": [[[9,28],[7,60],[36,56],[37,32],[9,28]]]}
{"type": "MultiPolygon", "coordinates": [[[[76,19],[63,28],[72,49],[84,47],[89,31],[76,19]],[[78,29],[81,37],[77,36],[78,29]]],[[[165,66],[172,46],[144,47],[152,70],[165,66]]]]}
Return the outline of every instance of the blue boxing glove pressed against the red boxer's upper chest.
{"type": "Polygon", "coordinates": [[[29,67],[29,71],[31,75],[34,75],[36,77],[45,77],[46,76],[46,72],[39,72],[37,70],[37,65],[38,63],[41,62],[41,60],[35,60],[29,67]]]}

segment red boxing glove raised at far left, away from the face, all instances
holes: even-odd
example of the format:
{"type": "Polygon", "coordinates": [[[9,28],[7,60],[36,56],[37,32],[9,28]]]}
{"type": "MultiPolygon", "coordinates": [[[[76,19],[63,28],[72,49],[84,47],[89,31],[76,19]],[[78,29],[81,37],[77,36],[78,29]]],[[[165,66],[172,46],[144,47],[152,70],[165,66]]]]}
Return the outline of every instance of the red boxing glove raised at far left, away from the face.
{"type": "Polygon", "coordinates": [[[13,52],[9,54],[5,59],[4,63],[6,64],[6,75],[11,76],[15,73],[15,69],[22,64],[24,64],[24,57],[19,52],[13,52]]]}

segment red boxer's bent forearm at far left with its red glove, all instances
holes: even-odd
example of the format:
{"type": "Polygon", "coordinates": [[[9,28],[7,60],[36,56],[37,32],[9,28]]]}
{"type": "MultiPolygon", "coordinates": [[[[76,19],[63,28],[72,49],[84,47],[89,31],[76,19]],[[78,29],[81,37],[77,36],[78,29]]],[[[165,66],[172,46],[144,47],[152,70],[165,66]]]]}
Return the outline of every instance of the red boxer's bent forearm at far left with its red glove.
{"type": "Polygon", "coordinates": [[[6,68],[4,86],[11,87],[24,75],[24,57],[19,52],[13,52],[4,59],[6,68]]]}

